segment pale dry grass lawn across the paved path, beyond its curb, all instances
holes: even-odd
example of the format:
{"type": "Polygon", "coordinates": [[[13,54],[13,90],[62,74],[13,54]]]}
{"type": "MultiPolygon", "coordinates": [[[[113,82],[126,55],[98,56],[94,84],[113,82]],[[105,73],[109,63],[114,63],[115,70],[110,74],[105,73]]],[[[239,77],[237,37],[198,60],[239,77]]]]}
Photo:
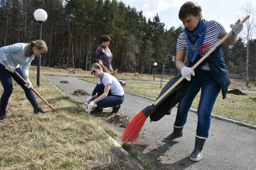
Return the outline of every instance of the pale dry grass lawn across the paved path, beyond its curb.
{"type": "MultiPolygon", "coordinates": [[[[84,80],[97,82],[96,78],[83,78],[84,80]]],[[[150,82],[134,82],[132,80],[126,81],[126,86],[123,87],[125,91],[139,94],[146,97],[156,99],[160,94],[162,88],[160,84],[154,84],[150,82]],[[150,93],[148,93],[150,91],[150,93]]],[[[201,92],[196,96],[192,107],[198,108],[201,92]]],[[[222,99],[221,92],[219,93],[212,113],[218,116],[227,117],[230,119],[246,122],[252,125],[256,125],[256,94],[247,94],[243,96],[237,96],[234,94],[227,94],[225,100],[222,99]]]]}

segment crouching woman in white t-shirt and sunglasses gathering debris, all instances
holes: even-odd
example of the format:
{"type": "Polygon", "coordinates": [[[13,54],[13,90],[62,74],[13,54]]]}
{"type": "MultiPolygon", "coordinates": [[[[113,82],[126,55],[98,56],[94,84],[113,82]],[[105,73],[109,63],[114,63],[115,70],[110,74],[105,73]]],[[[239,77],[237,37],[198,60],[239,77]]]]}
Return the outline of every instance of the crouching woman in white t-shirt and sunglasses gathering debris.
{"type": "Polygon", "coordinates": [[[93,90],[92,96],[86,99],[90,102],[88,109],[92,109],[96,103],[97,107],[90,113],[101,112],[103,108],[113,107],[111,113],[118,113],[124,102],[125,93],[119,81],[113,77],[107,68],[98,63],[90,66],[91,74],[98,77],[98,84],[93,90]]]}

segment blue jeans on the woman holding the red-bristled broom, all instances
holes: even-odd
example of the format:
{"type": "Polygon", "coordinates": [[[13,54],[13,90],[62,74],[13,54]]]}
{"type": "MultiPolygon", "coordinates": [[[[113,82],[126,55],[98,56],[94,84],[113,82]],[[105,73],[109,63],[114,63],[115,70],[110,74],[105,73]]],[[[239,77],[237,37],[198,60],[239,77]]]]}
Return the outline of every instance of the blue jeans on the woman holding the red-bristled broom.
{"type": "Polygon", "coordinates": [[[212,76],[211,71],[195,69],[195,76],[191,77],[189,90],[180,100],[178,105],[175,126],[184,126],[187,120],[189,108],[195,96],[201,89],[201,97],[198,105],[198,123],[196,135],[208,138],[211,125],[211,113],[215,100],[221,90],[212,76]]]}

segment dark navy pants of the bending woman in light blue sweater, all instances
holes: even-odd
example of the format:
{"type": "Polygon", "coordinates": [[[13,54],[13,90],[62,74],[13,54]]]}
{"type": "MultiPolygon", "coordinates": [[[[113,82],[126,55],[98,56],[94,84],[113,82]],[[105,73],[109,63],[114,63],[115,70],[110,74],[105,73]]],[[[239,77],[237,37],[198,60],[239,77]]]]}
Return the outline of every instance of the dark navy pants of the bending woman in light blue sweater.
{"type": "MultiPolygon", "coordinates": [[[[15,69],[21,77],[23,77],[22,71],[20,68],[15,69]]],[[[35,100],[35,96],[32,93],[31,89],[26,88],[25,83],[15,74],[10,71],[8,71],[5,66],[0,64],[0,81],[3,85],[3,94],[0,99],[0,114],[6,113],[6,107],[9,102],[9,98],[12,94],[12,78],[20,85],[21,88],[23,88],[26,98],[29,100],[29,102],[32,104],[32,106],[38,107],[38,103],[35,100]]]]}

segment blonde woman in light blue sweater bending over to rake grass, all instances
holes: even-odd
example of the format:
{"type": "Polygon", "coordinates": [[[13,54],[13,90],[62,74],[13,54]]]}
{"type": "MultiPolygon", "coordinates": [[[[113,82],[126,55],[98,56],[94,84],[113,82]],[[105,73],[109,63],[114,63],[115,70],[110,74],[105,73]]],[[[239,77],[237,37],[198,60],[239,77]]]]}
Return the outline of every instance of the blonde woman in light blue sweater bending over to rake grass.
{"type": "Polygon", "coordinates": [[[43,40],[31,41],[30,43],[16,43],[0,48],[0,81],[3,85],[3,94],[0,99],[0,120],[9,119],[6,116],[6,107],[12,94],[12,78],[23,88],[26,98],[32,104],[34,113],[46,113],[36,102],[35,96],[30,89],[32,84],[29,80],[29,65],[35,56],[47,52],[47,45],[43,40]],[[22,69],[19,64],[23,64],[22,69]],[[27,84],[14,73],[17,71],[24,77],[27,84]]]}

